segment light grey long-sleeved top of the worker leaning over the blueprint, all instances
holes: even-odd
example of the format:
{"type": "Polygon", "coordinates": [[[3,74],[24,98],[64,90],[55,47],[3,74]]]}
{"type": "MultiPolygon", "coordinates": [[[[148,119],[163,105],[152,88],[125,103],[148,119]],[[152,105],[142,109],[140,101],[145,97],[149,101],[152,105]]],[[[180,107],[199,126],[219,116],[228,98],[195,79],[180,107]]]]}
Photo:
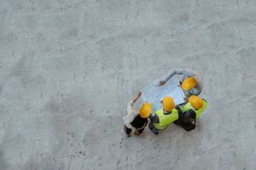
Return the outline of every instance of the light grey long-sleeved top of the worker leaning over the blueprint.
{"type": "Polygon", "coordinates": [[[201,94],[201,90],[203,88],[203,79],[201,76],[201,73],[198,71],[193,71],[190,69],[173,69],[172,71],[169,71],[168,74],[164,77],[164,81],[167,82],[173,75],[183,75],[180,82],[183,82],[185,78],[187,77],[195,77],[195,80],[197,82],[195,88],[192,88],[189,90],[189,94],[193,95],[199,95],[201,94]]]}

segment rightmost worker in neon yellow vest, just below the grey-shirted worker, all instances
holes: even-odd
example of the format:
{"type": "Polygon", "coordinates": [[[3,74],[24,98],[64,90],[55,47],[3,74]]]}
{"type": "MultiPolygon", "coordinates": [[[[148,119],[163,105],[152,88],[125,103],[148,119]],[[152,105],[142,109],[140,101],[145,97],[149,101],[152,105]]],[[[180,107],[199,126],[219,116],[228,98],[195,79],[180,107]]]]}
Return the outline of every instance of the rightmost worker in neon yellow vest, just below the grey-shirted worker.
{"type": "Polygon", "coordinates": [[[189,102],[176,106],[178,120],[174,123],[183,127],[186,131],[193,130],[195,129],[195,119],[198,119],[206,108],[207,100],[192,95],[189,97],[189,102]]]}

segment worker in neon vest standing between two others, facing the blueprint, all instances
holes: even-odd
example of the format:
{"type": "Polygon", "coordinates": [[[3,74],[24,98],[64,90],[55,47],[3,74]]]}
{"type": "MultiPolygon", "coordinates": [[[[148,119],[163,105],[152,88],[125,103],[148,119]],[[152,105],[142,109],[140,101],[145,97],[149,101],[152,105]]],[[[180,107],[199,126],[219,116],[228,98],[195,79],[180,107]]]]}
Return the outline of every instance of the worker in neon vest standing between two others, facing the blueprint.
{"type": "Polygon", "coordinates": [[[162,100],[163,109],[155,111],[154,116],[150,115],[149,129],[154,133],[158,134],[159,130],[164,130],[172,122],[177,121],[178,113],[174,108],[174,101],[171,97],[165,97],[162,100]]]}

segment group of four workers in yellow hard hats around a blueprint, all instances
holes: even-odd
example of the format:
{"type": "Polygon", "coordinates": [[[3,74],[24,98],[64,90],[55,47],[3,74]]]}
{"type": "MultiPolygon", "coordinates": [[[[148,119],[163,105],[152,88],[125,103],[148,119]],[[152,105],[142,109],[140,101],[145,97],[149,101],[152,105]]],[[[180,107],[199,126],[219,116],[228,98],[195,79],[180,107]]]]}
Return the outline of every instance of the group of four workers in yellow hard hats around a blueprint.
{"type": "Polygon", "coordinates": [[[201,116],[201,112],[207,107],[207,100],[198,97],[201,94],[203,81],[198,71],[190,69],[174,69],[165,77],[162,77],[159,86],[164,85],[172,76],[182,75],[180,86],[186,95],[185,102],[175,105],[172,96],[166,96],[162,99],[162,109],[152,114],[152,105],[148,102],[144,103],[139,111],[133,108],[134,103],[140,98],[141,92],[127,105],[127,115],[123,117],[125,126],[124,130],[127,137],[130,137],[132,129],[135,135],[143,133],[145,127],[158,134],[160,130],[166,129],[172,122],[186,131],[195,129],[195,120],[201,116]],[[148,118],[150,123],[148,124],[148,118]]]}

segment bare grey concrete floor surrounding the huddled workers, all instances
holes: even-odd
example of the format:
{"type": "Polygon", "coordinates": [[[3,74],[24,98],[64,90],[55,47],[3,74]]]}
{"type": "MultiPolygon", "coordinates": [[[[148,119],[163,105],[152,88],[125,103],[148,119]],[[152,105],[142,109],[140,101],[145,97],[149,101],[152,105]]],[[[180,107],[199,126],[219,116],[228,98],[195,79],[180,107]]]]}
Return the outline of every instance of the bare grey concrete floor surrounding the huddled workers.
{"type": "Polygon", "coordinates": [[[255,73],[253,0],[1,0],[0,169],[255,170],[255,73]],[[204,75],[198,127],[126,138],[179,67],[204,75]]]}

